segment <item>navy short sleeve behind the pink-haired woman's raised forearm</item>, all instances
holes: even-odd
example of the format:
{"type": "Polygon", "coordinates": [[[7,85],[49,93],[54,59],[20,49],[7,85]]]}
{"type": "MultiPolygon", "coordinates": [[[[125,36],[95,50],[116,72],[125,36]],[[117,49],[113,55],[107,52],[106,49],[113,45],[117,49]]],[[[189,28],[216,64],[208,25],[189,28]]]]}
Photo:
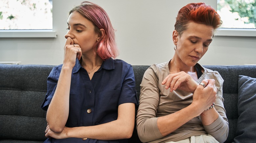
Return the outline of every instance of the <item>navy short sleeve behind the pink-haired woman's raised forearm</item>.
{"type": "Polygon", "coordinates": [[[41,108],[45,111],[47,111],[48,106],[53,99],[53,95],[57,87],[58,79],[56,79],[56,77],[59,77],[59,75],[56,76],[56,71],[57,71],[57,67],[54,67],[47,78],[47,93],[41,105],[41,108]]]}

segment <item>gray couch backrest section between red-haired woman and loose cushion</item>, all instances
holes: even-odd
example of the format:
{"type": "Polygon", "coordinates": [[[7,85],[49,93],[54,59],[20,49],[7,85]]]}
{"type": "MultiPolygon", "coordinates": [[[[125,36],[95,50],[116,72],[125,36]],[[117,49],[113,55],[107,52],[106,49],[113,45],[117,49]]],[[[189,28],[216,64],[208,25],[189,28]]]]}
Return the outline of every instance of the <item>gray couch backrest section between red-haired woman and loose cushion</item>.
{"type": "MultiPolygon", "coordinates": [[[[256,78],[256,66],[204,66],[205,68],[218,71],[223,83],[224,107],[229,123],[229,134],[226,142],[232,142],[236,136],[237,128],[237,102],[238,102],[238,75],[256,78]]],[[[248,107],[249,108],[249,107],[248,107]]]]}

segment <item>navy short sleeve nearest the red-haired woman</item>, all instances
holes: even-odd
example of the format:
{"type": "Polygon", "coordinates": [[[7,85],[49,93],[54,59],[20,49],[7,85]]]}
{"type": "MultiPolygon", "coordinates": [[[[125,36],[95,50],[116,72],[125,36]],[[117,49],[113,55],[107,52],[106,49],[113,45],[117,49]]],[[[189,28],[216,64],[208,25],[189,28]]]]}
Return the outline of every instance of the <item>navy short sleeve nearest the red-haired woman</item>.
{"type": "Polygon", "coordinates": [[[118,105],[123,103],[135,103],[136,106],[138,106],[139,102],[135,88],[133,68],[129,65],[126,70],[127,72],[123,79],[118,105]]]}

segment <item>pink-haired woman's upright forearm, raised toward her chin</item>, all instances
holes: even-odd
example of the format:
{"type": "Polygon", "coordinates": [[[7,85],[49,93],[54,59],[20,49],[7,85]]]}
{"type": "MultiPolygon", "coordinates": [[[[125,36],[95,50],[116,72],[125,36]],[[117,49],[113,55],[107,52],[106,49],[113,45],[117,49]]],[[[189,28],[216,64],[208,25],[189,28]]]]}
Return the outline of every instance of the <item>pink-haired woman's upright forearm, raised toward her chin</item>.
{"type": "Polygon", "coordinates": [[[53,99],[47,110],[47,122],[53,132],[61,132],[69,115],[69,93],[72,69],[62,67],[53,99]]]}

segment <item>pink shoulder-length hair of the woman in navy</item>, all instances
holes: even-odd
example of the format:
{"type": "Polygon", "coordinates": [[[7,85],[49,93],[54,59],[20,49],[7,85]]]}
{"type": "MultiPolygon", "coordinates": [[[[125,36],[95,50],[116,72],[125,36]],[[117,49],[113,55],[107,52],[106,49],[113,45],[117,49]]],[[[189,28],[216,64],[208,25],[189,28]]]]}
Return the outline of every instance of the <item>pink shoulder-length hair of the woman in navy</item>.
{"type": "Polygon", "coordinates": [[[100,6],[87,1],[82,2],[80,6],[73,8],[69,14],[74,11],[79,12],[86,19],[91,21],[95,25],[95,32],[101,35],[100,29],[105,30],[105,35],[94,45],[95,51],[99,57],[103,60],[110,57],[116,58],[119,52],[115,40],[115,30],[106,11],[100,6]]]}

